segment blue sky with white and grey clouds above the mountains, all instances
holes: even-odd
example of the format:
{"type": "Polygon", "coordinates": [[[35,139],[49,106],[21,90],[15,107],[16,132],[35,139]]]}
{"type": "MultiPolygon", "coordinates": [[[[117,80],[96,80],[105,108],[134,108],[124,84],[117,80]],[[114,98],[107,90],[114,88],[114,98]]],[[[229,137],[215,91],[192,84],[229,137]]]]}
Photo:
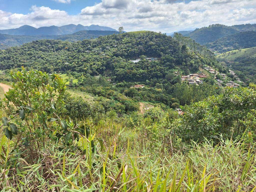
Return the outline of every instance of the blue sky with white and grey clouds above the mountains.
{"type": "Polygon", "coordinates": [[[256,0],[0,0],[0,29],[91,24],[170,33],[256,23],[256,0]]]}

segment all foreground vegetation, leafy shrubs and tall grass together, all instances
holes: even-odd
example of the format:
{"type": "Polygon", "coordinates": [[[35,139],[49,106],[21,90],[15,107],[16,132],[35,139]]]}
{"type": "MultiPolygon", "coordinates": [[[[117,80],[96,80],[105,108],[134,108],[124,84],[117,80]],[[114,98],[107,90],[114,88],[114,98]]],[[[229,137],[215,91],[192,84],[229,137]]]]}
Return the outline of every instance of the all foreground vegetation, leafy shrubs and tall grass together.
{"type": "Polygon", "coordinates": [[[11,77],[1,100],[2,191],[255,190],[254,84],[185,106],[182,116],[155,107],[118,118],[70,107],[56,74],[11,77]]]}

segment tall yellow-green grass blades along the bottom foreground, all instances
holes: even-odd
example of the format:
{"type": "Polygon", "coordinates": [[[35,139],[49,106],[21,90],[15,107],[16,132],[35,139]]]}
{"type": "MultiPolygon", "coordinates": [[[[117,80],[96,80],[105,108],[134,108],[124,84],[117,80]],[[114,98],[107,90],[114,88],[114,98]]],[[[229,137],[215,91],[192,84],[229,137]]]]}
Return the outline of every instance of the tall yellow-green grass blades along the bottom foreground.
{"type": "Polygon", "coordinates": [[[255,146],[221,140],[192,143],[170,155],[143,145],[123,123],[99,121],[78,146],[42,149],[37,162],[9,150],[1,135],[1,191],[254,191],[255,146]],[[130,134],[129,134],[130,133],[130,134]],[[101,150],[96,138],[104,141],[101,150]],[[93,152],[91,141],[96,151],[93,152]]]}

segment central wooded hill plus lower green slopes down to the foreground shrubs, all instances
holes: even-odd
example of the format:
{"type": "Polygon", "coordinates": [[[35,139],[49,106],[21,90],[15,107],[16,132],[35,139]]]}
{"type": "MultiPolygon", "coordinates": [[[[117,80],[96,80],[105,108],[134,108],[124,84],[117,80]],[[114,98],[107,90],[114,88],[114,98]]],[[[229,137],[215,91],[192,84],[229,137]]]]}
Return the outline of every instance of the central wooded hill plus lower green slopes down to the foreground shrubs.
{"type": "Polygon", "coordinates": [[[227,73],[205,46],[188,37],[152,31],[77,42],[38,40],[0,51],[0,69],[61,73],[68,87],[92,95],[105,111],[114,109],[119,114],[137,111],[141,101],[176,108],[219,94],[222,87],[216,89],[214,75],[198,86],[182,82],[181,75],[199,73],[205,66],[227,73]],[[140,61],[130,61],[134,58],[140,61]],[[144,88],[132,88],[135,84],[144,88]]]}

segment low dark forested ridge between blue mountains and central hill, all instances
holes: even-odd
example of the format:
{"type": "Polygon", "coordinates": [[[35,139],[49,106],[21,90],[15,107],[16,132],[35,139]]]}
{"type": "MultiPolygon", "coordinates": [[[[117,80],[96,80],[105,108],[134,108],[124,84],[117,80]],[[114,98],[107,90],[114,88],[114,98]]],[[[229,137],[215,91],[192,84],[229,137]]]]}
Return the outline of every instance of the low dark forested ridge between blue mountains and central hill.
{"type": "Polygon", "coordinates": [[[73,34],[66,35],[37,35],[37,36],[24,36],[24,35],[6,35],[0,34],[0,49],[7,47],[20,46],[40,39],[60,39],[64,41],[81,41],[83,39],[97,38],[103,35],[119,34],[118,31],[99,31],[99,30],[83,30],[73,34]]]}

